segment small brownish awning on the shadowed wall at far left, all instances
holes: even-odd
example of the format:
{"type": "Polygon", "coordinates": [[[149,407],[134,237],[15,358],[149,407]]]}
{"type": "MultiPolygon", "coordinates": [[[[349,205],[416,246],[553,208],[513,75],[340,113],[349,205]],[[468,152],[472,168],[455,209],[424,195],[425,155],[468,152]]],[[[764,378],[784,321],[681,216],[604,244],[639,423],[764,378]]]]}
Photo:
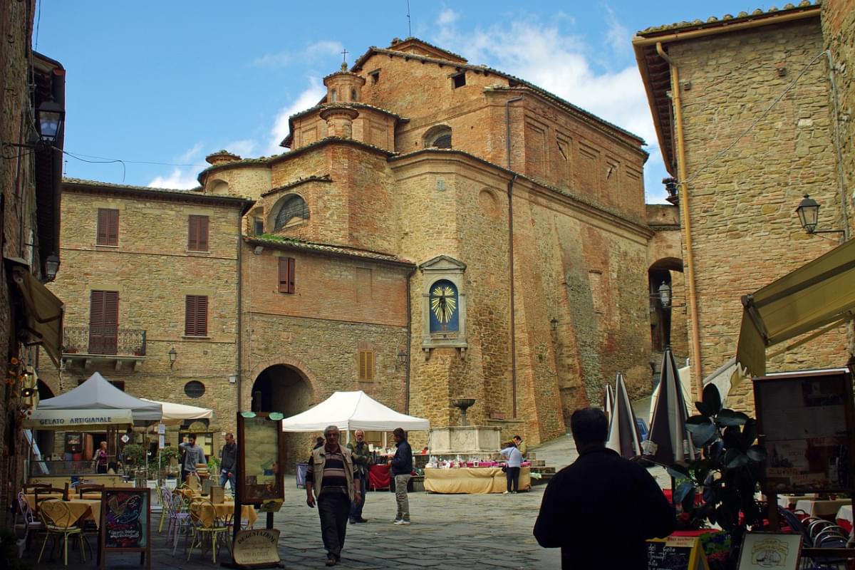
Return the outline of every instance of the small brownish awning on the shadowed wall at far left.
{"type": "Polygon", "coordinates": [[[62,358],[62,301],[48,291],[32,273],[27,262],[6,257],[12,280],[21,290],[24,304],[24,344],[41,344],[44,351],[59,367],[62,358]]]}

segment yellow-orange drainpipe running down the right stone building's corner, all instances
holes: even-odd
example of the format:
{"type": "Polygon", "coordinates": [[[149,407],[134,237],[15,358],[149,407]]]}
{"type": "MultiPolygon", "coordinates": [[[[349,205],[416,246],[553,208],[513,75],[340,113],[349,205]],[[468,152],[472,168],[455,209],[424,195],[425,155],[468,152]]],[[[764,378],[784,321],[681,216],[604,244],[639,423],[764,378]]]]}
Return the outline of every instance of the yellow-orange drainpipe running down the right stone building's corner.
{"type": "Polygon", "coordinates": [[[694,361],[692,362],[692,375],[695,382],[695,390],[697,396],[704,393],[704,377],[701,375],[701,358],[700,358],[700,323],[698,321],[698,293],[695,289],[695,271],[694,271],[694,253],[692,250],[692,220],[689,216],[689,193],[686,183],[683,181],[687,177],[686,171],[686,152],[685,138],[683,136],[683,109],[680,97],[680,71],[673,59],[671,59],[665,50],[662,49],[662,42],[657,42],[656,51],[663,60],[668,62],[671,70],[671,94],[674,103],[674,130],[675,130],[675,150],[677,152],[677,189],[680,191],[680,213],[681,224],[686,228],[686,263],[683,264],[684,269],[688,269],[686,277],[688,280],[689,298],[687,304],[689,306],[689,315],[692,320],[692,351],[694,361]]]}

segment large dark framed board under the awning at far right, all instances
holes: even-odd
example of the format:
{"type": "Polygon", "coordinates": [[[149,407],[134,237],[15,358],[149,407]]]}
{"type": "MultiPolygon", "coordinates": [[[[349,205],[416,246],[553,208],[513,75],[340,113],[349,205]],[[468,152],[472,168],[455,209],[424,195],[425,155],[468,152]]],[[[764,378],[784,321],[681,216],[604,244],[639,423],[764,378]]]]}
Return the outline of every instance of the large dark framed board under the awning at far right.
{"type": "Polygon", "coordinates": [[[852,375],[846,368],[754,379],[769,493],[851,492],[852,375]]]}

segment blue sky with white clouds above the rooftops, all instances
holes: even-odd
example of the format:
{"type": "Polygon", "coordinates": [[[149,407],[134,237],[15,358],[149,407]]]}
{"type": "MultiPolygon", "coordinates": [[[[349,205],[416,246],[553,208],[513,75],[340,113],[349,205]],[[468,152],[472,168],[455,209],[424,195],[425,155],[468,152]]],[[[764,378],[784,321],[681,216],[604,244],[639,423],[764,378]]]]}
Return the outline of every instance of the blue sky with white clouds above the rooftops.
{"type": "MultiPolygon", "coordinates": [[[[648,26],[769,9],[732,0],[410,0],[412,35],[540,85],[645,138],[649,203],[665,172],[630,40],[648,26]]],[[[190,188],[204,156],[284,149],[321,78],[406,38],[406,0],[40,0],[33,44],[67,70],[65,175],[190,188]]]]}

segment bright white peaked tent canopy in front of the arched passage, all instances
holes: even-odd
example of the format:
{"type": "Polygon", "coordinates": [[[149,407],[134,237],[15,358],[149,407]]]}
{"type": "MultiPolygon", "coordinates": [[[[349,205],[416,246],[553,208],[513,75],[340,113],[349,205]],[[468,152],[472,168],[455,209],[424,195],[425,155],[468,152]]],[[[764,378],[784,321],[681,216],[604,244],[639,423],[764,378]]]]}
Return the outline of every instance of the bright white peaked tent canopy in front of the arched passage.
{"type": "Polygon", "coordinates": [[[283,432],[322,432],[327,426],[339,430],[389,432],[400,427],[405,431],[428,430],[424,418],[400,414],[369,397],[363,391],[335,392],[313,408],[282,420],[283,432]]]}

